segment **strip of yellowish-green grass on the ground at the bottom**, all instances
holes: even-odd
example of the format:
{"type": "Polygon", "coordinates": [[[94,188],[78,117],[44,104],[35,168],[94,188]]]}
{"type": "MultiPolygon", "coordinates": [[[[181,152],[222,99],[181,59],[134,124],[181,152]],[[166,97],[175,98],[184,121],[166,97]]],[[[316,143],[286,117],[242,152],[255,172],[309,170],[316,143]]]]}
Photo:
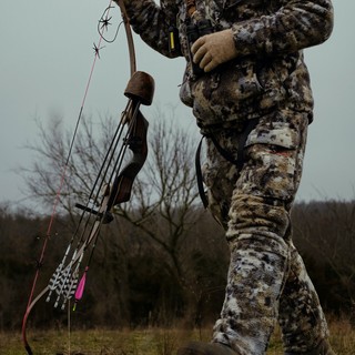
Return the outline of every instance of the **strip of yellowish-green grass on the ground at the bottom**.
{"type": "MultiPolygon", "coordinates": [[[[355,355],[355,328],[347,321],[333,321],[331,342],[337,355],[355,355]]],[[[172,355],[189,339],[209,341],[211,328],[183,329],[149,328],[141,331],[30,331],[28,339],[38,355],[172,355]]],[[[24,354],[18,333],[0,333],[0,354],[24,354]]],[[[278,331],[275,332],[267,355],[283,355],[278,331]]]]}

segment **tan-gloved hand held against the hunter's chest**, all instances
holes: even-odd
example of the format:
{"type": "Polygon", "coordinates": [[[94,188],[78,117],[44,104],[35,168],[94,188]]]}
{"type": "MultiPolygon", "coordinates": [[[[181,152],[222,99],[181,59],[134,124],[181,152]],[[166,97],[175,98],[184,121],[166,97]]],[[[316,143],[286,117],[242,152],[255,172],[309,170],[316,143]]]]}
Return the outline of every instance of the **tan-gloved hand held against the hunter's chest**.
{"type": "Polygon", "coordinates": [[[209,72],[236,57],[236,48],[231,29],[199,38],[191,47],[194,63],[209,72]]]}

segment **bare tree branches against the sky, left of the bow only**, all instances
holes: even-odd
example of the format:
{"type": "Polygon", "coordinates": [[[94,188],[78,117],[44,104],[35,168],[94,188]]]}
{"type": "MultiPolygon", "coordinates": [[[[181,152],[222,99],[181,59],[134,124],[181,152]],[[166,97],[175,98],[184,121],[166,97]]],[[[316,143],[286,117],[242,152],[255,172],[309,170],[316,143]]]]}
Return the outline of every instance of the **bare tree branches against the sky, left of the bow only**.
{"type": "Polygon", "coordinates": [[[59,197],[61,211],[72,215],[74,203],[88,200],[100,171],[115,120],[101,120],[98,129],[90,118],[82,118],[81,122],[72,142],[73,133],[64,130],[61,118],[51,118],[45,126],[38,120],[39,140],[26,145],[34,160],[29,166],[21,166],[19,173],[24,179],[29,201],[44,211],[51,211],[59,197]]]}

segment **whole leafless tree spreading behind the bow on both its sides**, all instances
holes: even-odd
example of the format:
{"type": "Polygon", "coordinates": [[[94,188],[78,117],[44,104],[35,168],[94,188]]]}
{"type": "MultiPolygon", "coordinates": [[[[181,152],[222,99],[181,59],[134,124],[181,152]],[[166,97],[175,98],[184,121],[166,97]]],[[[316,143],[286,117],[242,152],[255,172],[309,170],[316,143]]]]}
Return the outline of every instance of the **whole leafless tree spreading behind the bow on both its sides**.
{"type": "MultiPolygon", "coordinates": [[[[21,171],[31,199],[45,206],[52,203],[67,161],[60,205],[74,222],[74,203],[90,195],[115,124],[114,119],[106,118],[94,129],[91,120],[84,120],[68,160],[71,139],[61,121],[53,119],[48,128],[39,123],[39,142],[28,145],[37,160],[21,171]]],[[[180,291],[165,290],[163,293],[183,293],[186,288],[184,274],[194,255],[196,242],[190,240],[187,243],[186,237],[203,213],[193,165],[195,148],[193,134],[178,124],[173,110],[169,118],[158,111],[149,129],[149,158],[135,179],[132,199],[113,210],[119,220],[123,219],[135,231],[130,245],[120,246],[123,247],[121,252],[130,247],[130,253],[142,256],[150,251],[149,263],[159,263],[160,274],[166,275],[169,284],[180,285],[180,291]]],[[[109,240],[112,242],[106,239],[103,243],[109,240]]]]}

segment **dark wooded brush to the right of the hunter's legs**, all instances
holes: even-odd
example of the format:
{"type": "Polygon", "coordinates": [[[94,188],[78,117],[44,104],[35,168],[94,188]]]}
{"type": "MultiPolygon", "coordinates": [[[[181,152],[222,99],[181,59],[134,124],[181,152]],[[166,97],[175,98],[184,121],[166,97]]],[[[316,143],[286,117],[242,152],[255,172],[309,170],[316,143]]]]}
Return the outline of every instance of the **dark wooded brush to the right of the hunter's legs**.
{"type": "Polygon", "coordinates": [[[355,204],[339,201],[301,203],[295,206],[293,220],[295,240],[306,262],[308,260],[311,271],[321,271],[313,276],[324,288],[323,292],[320,290],[321,298],[332,303],[328,306],[333,310],[354,307],[355,204]]]}

